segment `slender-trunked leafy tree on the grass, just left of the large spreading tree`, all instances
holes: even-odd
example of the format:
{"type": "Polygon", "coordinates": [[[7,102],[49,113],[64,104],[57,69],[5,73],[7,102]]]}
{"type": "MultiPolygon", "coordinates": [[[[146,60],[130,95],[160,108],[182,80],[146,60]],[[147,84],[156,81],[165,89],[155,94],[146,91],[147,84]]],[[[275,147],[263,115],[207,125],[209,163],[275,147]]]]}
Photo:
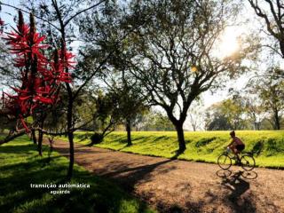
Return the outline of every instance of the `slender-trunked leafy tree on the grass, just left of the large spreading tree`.
{"type": "Polygon", "coordinates": [[[130,146],[131,128],[146,106],[145,97],[141,96],[143,91],[130,75],[129,67],[120,57],[120,52],[128,51],[128,37],[145,21],[139,21],[137,25],[127,29],[118,28],[127,25],[127,20],[122,14],[122,4],[110,1],[101,14],[89,13],[83,20],[78,20],[78,25],[86,43],[82,52],[84,70],[88,72],[86,67],[93,67],[98,63],[98,59],[109,56],[106,66],[99,71],[99,78],[106,83],[107,93],[116,100],[117,108],[114,111],[119,114],[120,122],[125,125],[130,146]]]}

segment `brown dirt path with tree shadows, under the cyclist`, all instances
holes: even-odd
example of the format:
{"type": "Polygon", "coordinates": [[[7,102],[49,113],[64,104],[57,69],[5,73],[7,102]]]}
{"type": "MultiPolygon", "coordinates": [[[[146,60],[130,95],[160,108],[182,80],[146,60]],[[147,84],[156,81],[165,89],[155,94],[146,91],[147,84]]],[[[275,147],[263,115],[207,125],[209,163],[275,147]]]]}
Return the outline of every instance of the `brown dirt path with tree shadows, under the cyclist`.
{"type": "MultiPolygon", "coordinates": [[[[68,144],[55,149],[67,155],[68,144]]],[[[256,169],[229,177],[209,163],[184,162],[75,145],[75,162],[114,179],[160,212],[284,212],[284,170],[256,169]],[[248,176],[247,178],[243,176],[248,176]]]]}

